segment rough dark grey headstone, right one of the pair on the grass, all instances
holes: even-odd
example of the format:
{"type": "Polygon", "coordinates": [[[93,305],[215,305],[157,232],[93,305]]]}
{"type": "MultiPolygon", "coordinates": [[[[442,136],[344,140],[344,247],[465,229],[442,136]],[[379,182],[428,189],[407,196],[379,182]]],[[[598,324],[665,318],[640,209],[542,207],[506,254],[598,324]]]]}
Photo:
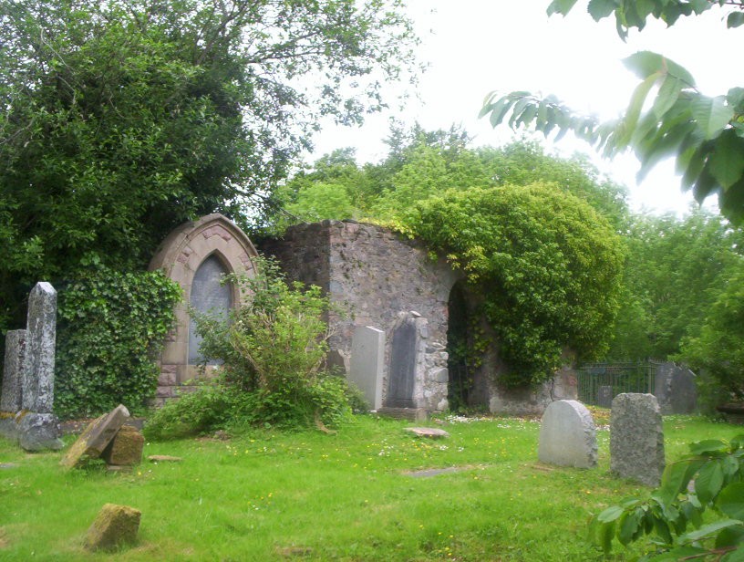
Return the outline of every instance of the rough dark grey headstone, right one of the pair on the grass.
{"type": "Polygon", "coordinates": [[[657,486],[664,472],[664,430],[653,394],[618,394],[610,412],[610,470],[657,486]]]}

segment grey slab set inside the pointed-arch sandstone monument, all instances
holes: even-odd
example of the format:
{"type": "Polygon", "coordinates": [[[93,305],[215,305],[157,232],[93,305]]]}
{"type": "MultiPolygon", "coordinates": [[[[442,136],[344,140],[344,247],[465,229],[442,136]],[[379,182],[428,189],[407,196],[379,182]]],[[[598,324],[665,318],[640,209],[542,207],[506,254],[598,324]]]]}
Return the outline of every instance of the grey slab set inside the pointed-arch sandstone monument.
{"type": "MultiPolygon", "coordinates": [[[[191,307],[200,314],[225,318],[233,306],[233,295],[228,284],[222,284],[222,276],[228,272],[222,262],[210,255],[196,270],[191,285],[191,307]]],[[[196,322],[191,319],[189,327],[189,364],[202,362],[199,347],[202,337],[196,331],[196,322]]],[[[216,365],[219,361],[212,360],[208,364],[216,365]]]]}

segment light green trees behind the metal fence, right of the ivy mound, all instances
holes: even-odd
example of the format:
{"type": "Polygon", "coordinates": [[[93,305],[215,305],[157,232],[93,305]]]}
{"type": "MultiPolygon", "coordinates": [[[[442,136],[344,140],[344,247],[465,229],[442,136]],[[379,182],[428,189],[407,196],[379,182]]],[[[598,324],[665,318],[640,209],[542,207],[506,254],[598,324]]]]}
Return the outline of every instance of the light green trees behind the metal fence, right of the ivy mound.
{"type": "Polygon", "coordinates": [[[741,232],[702,210],[684,218],[635,215],[625,236],[625,296],[613,359],[671,359],[697,336],[741,262],[741,232]]]}

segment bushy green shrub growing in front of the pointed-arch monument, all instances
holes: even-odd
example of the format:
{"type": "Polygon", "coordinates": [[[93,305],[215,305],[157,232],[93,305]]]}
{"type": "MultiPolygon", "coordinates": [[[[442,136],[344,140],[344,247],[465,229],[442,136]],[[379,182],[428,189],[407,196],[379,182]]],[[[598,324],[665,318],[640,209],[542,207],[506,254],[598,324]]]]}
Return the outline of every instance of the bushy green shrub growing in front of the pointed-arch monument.
{"type": "Polygon", "coordinates": [[[351,413],[343,377],[325,371],[327,297],[312,286],[288,286],[276,265],[261,275],[232,277],[251,295],[228,318],[197,315],[202,355],[220,359],[216,386],[166,404],[148,424],[151,438],[240,424],[337,426],[351,413]]]}

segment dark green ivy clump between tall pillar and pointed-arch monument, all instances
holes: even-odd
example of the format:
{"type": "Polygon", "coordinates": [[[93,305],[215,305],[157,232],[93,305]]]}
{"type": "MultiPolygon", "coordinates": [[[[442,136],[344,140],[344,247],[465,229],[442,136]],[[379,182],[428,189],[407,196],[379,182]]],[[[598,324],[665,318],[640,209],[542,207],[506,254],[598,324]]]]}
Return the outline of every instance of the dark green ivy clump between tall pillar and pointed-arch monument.
{"type": "Polygon", "coordinates": [[[119,403],[137,411],[155,395],[155,353],[181,288],[160,272],[88,270],[58,296],[55,411],[95,416],[119,403]]]}

